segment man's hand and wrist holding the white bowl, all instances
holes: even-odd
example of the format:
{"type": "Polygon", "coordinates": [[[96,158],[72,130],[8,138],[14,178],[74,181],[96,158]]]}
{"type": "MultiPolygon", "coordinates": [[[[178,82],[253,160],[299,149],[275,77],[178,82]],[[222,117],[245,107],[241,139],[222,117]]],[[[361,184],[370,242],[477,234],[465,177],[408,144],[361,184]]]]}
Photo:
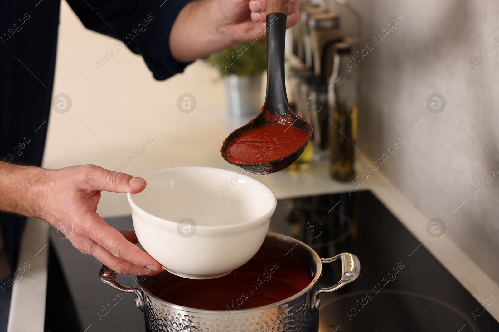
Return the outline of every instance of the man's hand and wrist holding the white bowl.
{"type": "Polygon", "coordinates": [[[145,180],[94,165],[48,170],[7,165],[0,170],[0,210],[47,221],[83,253],[122,274],[156,275],[159,262],[97,214],[101,191],[139,193],[145,180]],[[133,243],[132,243],[133,242],[133,243]]]}

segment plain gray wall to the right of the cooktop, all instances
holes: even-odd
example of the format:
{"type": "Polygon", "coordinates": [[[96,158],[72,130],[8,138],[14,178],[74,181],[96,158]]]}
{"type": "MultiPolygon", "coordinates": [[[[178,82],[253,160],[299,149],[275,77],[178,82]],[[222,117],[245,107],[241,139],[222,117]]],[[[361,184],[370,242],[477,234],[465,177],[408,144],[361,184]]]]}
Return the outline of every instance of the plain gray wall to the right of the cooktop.
{"type": "MultiPolygon", "coordinates": [[[[374,46],[370,38],[397,13],[404,15],[360,62],[357,146],[377,159],[402,137],[381,169],[426,216],[443,219],[445,236],[499,282],[499,174],[478,192],[470,188],[480,189],[475,181],[499,171],[499,49],[475,71],[470,65],[491,44],[499,47],[499,3],[412,2],[349,2],[361,13],[362,48],[374,46]],[[426,107],[434,93],[447,100],[440,114],[426,107]]],[[[352,19],[333,0],[326,5],[352,33],[352,19]]]]}

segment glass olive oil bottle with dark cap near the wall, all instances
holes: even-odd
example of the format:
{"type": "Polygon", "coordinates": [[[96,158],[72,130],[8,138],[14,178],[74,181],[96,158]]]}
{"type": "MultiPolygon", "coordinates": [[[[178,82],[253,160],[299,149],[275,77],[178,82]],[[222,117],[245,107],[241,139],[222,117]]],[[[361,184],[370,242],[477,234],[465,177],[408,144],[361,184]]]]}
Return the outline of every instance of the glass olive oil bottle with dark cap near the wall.
{"type": "Polygon", "coordinates": [[[358,83],[352,67],[351,46],[346,43],[337,43],[333,73],[329,79],[328,111],[329,173],[338,181],[349,181],[355,174],[358,83]]]}

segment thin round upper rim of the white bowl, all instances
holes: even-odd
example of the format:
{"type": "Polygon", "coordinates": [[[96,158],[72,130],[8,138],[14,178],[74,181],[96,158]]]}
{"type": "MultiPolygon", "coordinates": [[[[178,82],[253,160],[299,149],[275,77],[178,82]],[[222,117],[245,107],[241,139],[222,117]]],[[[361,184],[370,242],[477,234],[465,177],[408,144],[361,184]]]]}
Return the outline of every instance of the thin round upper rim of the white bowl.
{"type": "MultiPolygon", "coordinates": [[[[189,170],[189,169],[205,169],[205,170],[216,170],[216,171],[224,171],[224,172],[229,172],[229,173],[233,173],[233,174],[241,174],[241,173],[238,173],[238,172],[235,172],[235,171],[231,171],[231,170],[228,170],[228,169],[225,169],[225,168],[216,168],[216,167],[204,167],[204,166],[182,166],[182,167],[172,167],[172,168],[164,168],[164,169],[160,169],[160,170],[157,170],[157,171],[153,171],[153,172],[150,172],[150,173],[147,173],[145,175],[143,175],[142,177],[145,178],[147,176],[151,176],[155,173],[163,173],[163,172],[170,172],[170,171],[175,171],[175,170],[189,170]]],[[[247,175],[247,174],[246,174],[247,175]]],[[[235,223],[235,224],[229,224],[229,225],[199,225],[199,224],[196,224],[196,227],[198,229],[198,231],[200,229],[203,229],[203,231],[208,231],[208,232],[224,232],[224,231],[229,231],[229,230],[233,230],[233,229],[241,229],[241,230],[244,230],[246,228],[248,228],[249,226],[259,226],[260,223],[262,223],[263,221],[267,221],[268,219],[270,219],[270,217],[273,215],[274,211],[275,211],[275,208],[277,207],[277,199],[275,198],[275,195],[272,193],[272,191],[267,187],[265,186],[263,183],[261,183],[260,181],[258,180],[255,180],[251,177],[248,177],[249,181],[250,182],[253,182],[255,183],[257,186],[261,186],[263,188],[263,190],[266,190],[267,191],[267,194],[269,194],[269,197],[272,198],[272,206],[270,207],[270,209],[262,216],[256,218],[256,219],[253,219],[253,220],[250,220],[250,221],[244,221],[244,222],[241,222],[241,223],[235,223]]],[[[147,181],[147,179],[145,179],[147,181]]],[[[140,193],[137,193],[137,194],[140,194],[140,193]]],[[[133,195],[135,194],[132,194],[132,193],[127,193],[127,198],[128,198],[128,203],[130,204],[130,207],[132,209],[132,212],[135,213],[135,214],[140,214],[142,215],[142,217],[147,217],[148,220],[147,221],[159,221],[159,222],[162,222],[162,223],[166,223],[167,225],[169,223],[172,223],[171,226],[176,226],[178,224],[178,221],[172,221],[172,220],[168,220],[168,219],[163,219],[163,218],[160,218],[160,217],[157,217],[147,211],[145,211],[144,209],[142,209],[141,207],[139,207],[133,200],[133,195]]],[[[144,220],[142,220],[144,221],[144,220]]],[[[146,221],[146,222],[147,222],[146,221]]]]}

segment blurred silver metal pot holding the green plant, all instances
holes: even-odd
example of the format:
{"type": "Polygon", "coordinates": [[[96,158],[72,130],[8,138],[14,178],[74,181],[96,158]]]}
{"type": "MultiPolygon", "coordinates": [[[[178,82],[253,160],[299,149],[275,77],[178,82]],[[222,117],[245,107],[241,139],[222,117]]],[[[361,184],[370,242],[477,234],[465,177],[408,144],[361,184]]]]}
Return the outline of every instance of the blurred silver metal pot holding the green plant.
{"type": "Polygon", "coordinates": [[[261,75],[238,76],[224,79],[229,114],[234,117],[255,117],[261,109],[261,75]]]}

